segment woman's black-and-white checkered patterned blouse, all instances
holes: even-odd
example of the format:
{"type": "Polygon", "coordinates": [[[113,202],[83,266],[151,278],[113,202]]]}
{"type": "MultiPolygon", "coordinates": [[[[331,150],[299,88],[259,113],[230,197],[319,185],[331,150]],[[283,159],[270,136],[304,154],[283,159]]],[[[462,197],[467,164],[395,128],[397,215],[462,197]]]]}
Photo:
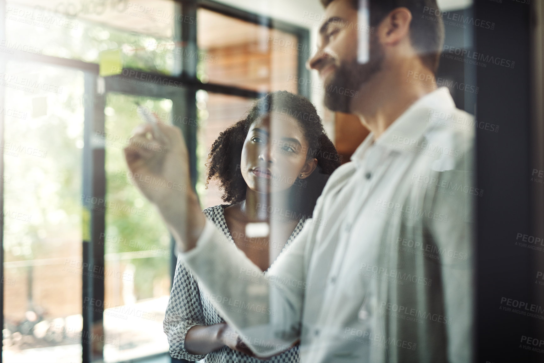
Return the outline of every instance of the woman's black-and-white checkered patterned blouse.
{"type": "MultiPolygon", "coordinates": [[[[223,208],[226,205],[217,205],[204,210],[206,217],[217,225],[219,230],[231,243],[234,243],[228,232],[227,223],[223,208]]],[[[286,246],[289,245],[302,230],[305,216],[299,220],[292,235],[289,237],[286,246]]],[[[206,355],[189,354],[185,349],[185,336],[187,331],[195,325],[213,325],[225,320],[218,314],[209,299],[200,291],[199,285],[186,269],[181,260],[177,260],[174,286],[170,293],[166,315],[164,317],[164,333],[168,336],[170,344],[170,355],[178,359],[188,361],[204,360],[207,363],[294,363],[299,362],[299,347],[288,350],[285,353],[276,355],[270,360],[252,358],[244,353],[237,352],[228,347],[222,347],[206,355]]]]}

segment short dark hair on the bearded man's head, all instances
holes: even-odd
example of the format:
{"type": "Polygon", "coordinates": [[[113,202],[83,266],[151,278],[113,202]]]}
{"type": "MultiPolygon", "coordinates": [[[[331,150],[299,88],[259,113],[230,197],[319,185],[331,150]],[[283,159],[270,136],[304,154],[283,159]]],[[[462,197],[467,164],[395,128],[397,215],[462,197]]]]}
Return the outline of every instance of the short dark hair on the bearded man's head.
{"type": "MultiPolygon", "coordinates": [[[[321,0],[321,3],[326,8],[333,1],[335,0],[321,0]]],[[[358,9],[358,0],[349,0],[349,2],[354,9],[358,9]]],[[[423,64],[436,73],[444,44],[444,24],[436,0],[369,0],[369,2],[371,27],[377,27],[395,8],[404,7],[411,11],[412,46],[419,52],[419,58],[423,64]]]]}

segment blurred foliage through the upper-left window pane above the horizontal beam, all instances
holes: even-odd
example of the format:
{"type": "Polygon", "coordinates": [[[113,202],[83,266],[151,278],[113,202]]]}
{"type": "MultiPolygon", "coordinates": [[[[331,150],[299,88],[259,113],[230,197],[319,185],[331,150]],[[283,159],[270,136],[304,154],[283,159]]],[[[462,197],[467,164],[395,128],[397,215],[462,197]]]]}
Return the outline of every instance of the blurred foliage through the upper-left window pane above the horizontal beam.
{"type": "MultiPolygon", "coordinates": [[[[47,4],[43,4],[47,7],[47,4]]],[[[79,59],[98,63],[101,51],[120,48],[125,68],[171,74],[175,66],[172,56],[174,40],[171,36],[141,34],[118,29],[106,23],[91,22],[81,18],[54,13],[42,6],[28,7],[16,4],[17,9],[29,11],[32,19],[54,16],[60,20],[57,24],[69,24],[67,27],[53,23],[39,23],[41,26],[28,24],[21,17],[10,19],[6,16],[6,34],[9,41],[41,48],[47,56],[79,59]],[[45,26],[48,26],[45,27],[45,26]],[[32,36],[28,36],[32,34],[32,36]]],[[[109,15],[119,17],[123,23],[137,23],[139,19],[126,15],[123,11],[109,10],[109,15]]],[[[111,20],[109,20],[111,22],[111,20]]],[[[173,24],[173,21],[172,21],[173,24]]],[[[173,25],[170,26],[173,29],[173,25]]],[[[172,33],[171,30],[169,33],[172,33]]],[[[179,57],[179,56],[178,56],[179,57]]]]}

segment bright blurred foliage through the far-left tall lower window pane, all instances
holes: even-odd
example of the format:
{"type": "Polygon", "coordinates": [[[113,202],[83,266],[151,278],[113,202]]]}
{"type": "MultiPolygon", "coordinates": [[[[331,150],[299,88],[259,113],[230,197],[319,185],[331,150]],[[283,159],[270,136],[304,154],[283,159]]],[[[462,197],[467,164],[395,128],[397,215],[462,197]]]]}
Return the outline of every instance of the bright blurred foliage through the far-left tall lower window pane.
{"type": "MultiPolygon", "coordinates": [[[[54,283],[33,284],[29,276],[35,278],[40,268],[47,267],[51,272],[47,278],[51,278],[66,261],[82,257],[84,75],[22,61],[7,61],[5,73],[17,77],[6,82],[0,105],[4,115],[3,242],[8,262],[4,276],[13,281],[4,287],[5,321],[16,320],[33,306],[51,314],[73,313],[81,310],[81,288],[55,291],[54,297],[47,298],[46,290],[54,288],[54,283]],[[46,85],[46,90],[17,89],[15,82],[22,79],[46,85]],[[50,85],[53,91],[48,90],[50,85]],[[39,259],[45,266],[37,267],[35,273],[33,262],[19,267],[9,264],[39,259]]],[[[77,274],[64,275],[67,281],[81,281],[77,274]]]]}

